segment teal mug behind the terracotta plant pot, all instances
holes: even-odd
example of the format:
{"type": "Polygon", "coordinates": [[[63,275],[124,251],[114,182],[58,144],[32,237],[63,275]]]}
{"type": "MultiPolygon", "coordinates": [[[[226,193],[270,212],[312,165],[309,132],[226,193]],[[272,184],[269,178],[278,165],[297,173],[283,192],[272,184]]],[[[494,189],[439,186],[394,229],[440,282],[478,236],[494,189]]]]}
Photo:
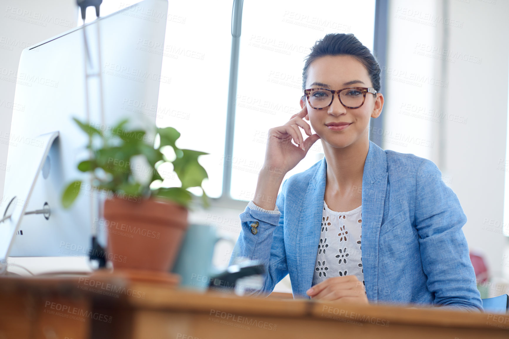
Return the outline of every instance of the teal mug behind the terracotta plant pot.
{"type": "Polygon", "coordinates": [[[216,229],[207,225],[189,225],[182,242],[179,256],[172,269],[181,277],[180,287],[204,291],[209,286],[214,267],[212,257],[219,240],[228,241],[235,246],[229,237],[218,236],[216,229]]]}

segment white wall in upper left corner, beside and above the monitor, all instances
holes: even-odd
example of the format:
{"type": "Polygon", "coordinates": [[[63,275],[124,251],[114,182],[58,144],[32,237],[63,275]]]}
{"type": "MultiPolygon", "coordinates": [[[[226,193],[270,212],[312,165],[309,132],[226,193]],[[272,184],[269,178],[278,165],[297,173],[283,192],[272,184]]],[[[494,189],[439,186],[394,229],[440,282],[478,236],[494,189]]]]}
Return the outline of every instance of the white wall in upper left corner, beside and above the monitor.
{"type": "MultiPolygon", "coordinates": [[[[0,192],[4,192],[7,150],[21,51],[76,27],[74,0],[0,0],[0,192]]],[[[1,195],[1,193],[0,193],[1,195]]]]}

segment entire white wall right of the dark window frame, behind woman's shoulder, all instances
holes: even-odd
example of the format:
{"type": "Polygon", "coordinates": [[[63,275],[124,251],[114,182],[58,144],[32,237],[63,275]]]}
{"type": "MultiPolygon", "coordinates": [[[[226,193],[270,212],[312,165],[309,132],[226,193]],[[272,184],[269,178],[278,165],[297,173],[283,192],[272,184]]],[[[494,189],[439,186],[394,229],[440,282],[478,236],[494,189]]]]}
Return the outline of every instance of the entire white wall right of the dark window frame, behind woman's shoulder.
{"type": "Polygon", "coordinates": [[[392,0],[382,113],[392,136],[383,148],[437,164],[467,215],[470,250],[484,253],[498,279],[509,263],[502,234],[507,13],[509,2],[500,0],[392,0]],[[396,133],[429,142],[395,145],[396,133]]]}

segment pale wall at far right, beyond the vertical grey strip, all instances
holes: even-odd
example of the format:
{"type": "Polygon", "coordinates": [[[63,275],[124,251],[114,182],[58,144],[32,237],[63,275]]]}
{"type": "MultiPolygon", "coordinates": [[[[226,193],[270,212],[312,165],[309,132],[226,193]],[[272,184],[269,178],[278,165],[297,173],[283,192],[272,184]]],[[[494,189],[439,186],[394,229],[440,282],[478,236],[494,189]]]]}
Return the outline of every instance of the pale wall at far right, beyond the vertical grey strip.
{"type": "Polygon", "coordinates": [[[468,118],[465,125],[449,121],[444,125],[443,166],[454,178],[453,189],[467,214],[463,230],[469,244],[486,252],[494,275],[502,274],[507,244],[501,227],[504,162],[499,166],[500,159],[505,161],[507,132],[507,13],[507,1],[450,2],[450,15],[465,24],[461,30],[451,29],[449,48],[482,60],[480,64],[470,61],[475,58],[448,64],[444,105],[445,111],[468,118]]]}

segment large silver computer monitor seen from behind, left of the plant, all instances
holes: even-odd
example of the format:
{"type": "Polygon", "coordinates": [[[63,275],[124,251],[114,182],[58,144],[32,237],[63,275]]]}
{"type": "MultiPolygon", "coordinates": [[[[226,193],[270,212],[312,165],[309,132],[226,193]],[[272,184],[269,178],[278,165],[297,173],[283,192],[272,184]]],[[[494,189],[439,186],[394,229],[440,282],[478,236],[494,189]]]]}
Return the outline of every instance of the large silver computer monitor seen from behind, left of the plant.
{"type": "MultiPolygon", "coordinates": [[[[72,118],[102,130],[126,117],[141,128],[155,125],[159,84],[171,80],[161,77],[167,7],[167,0],[145,0],[23,50],[14,98],[23,110],[12,117],[0,260],[87,256],[91,206],[100,201],[84,184],[71,208],[61,204],[69,182],[88,182],[76,168],[89,156],[88,137],[72,118]],[[103,116],[93,70],[102,75],[103,116]]],[[[104,245],[104,230],[98,236],[104,245]]]]}

